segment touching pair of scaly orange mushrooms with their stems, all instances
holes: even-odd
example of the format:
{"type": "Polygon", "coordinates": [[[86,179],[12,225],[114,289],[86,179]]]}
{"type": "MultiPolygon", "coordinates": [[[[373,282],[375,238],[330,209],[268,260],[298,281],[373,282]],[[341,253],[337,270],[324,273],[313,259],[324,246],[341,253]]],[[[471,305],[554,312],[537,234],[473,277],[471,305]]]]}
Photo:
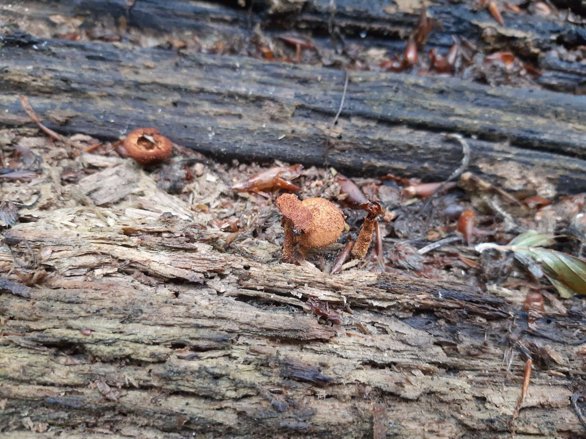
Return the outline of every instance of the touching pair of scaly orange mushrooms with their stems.
{"type": "Polygon", "coordinates": [[[283,260],[292,262],[293,246],[299,243],[299,252],[305,258],[309,248],[321,248],[336,241],[344,229],[345,218],[341,210],[324,198],[300,201],[294,194],[277,198],[277,207],[283,218],[285,231],[283,260]]]}

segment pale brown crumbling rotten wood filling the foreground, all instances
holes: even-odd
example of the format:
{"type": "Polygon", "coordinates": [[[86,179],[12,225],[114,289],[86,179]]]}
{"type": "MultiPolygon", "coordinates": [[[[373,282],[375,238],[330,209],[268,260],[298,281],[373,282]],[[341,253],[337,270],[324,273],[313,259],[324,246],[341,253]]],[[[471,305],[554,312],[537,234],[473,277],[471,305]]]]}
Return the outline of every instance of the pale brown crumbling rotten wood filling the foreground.
{"type": "MultiPolygon", "coordinates": [[[[180,214],[150,177],[114,169],[180,214]]],[[[110,207],[25,210],[33,222],[4,232],[39,265],[0,282],[3,437],[81,425],[79,437],[509,437],[524,368],[503,362],[513,320],[509,337],[551,359],[532,374],[517,437],[583,433],[570,407],[581,347],[543,338],[573,341],[581,314],[544,315],[538,338],[519,307],[464,284],[259,262],[278,248],[249,238],[237,245],[254,258],[232,253],[230,234],[124,209],[124,193],[101,198],[116,179],[91,177],[81,193],[110,207]],[[343,311],[342,325],[316,320],[309,297],[343,311]]]]}

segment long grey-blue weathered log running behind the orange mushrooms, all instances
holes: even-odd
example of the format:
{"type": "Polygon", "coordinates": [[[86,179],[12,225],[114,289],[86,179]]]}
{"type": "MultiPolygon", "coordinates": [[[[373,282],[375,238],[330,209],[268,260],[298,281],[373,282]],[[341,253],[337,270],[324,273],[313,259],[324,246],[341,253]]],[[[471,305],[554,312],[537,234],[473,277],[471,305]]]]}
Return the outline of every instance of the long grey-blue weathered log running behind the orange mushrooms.
{"type": "MultiPolygon", "coordinates": [[[[156,28],[148,20],[144,26],[156,28]]],[[[26,93],[62,133],[111,140],[157,125],[176,143],[218,157],[309,164],[325,162],[331,135],[332,166],[435,180],[461,160],[442,132],[459,132],[470,137],[471,169],[505,188],[586,190],[583,96],[356,71],[330,132],[340,70],[103,42],[41,43],[5,42],[2,124],[29,122],[15,97],[26,93]]]]}

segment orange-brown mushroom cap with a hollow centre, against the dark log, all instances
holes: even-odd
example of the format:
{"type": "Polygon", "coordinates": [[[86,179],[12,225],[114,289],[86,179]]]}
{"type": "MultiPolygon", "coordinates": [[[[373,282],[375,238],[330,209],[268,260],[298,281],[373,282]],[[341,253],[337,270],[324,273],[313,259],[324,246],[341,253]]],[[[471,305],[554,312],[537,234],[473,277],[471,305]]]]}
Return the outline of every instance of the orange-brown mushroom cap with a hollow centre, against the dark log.
{"type": "Polygon", "coordinates": [[[156,128],[137,128],[124,140],[125,154],[140,164],[162,162],[171,155],[171,140],[156,128]]]}

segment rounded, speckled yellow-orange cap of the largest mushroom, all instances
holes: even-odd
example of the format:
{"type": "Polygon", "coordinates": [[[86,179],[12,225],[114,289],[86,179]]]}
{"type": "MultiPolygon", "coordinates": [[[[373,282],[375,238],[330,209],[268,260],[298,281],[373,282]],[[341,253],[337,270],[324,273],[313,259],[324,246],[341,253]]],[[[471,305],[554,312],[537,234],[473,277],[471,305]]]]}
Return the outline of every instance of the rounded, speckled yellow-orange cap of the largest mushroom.
{"type": "Polygon", "coordinates": [[[301,204],[311,212],[312,222],[298,242],[308,248],[320,248],[338,241],[345,224],[342,211],[324,198],[308,198],[301,204]]]}

